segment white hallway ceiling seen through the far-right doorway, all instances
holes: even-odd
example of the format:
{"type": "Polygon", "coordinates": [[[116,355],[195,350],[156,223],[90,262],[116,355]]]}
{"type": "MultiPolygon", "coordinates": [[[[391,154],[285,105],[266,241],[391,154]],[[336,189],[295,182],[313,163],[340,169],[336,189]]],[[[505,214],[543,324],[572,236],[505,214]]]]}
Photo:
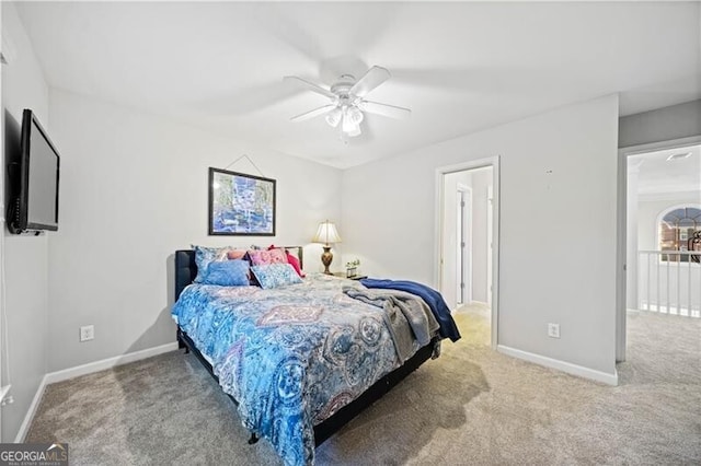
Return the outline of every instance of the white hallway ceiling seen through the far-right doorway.
{"type": "Polygon", "coordinates": [[[696,193],[701,202],[701,145],[646,152],[628,158],[629,176],[637,173],[637,194],[655,198],[659,195],[696,193]],[[687,158],[667,160],[675,154],[687,158]]]}

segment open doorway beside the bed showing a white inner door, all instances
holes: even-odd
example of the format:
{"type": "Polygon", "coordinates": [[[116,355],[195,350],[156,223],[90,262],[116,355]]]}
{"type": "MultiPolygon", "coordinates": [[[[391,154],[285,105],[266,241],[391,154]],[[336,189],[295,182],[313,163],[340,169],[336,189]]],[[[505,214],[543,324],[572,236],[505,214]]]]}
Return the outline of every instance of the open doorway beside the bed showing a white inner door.
{"type": "Polygon", "coordinates": [[[495,348],[498,159],[437,171],[437,283],[456,315],[467,315],[476,338],[495,348]]]}

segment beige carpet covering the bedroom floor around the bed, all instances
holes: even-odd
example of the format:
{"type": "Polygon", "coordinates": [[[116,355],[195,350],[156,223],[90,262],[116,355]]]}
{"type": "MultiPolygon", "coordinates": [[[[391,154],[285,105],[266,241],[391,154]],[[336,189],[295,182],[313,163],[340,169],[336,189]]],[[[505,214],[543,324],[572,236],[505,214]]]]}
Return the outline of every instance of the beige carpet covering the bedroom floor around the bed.
{"type": "MultiPolygon", "coordinates": [[[[318,465],[699,465],[701,322],[629,318],[621,385],[489,348],[484,308],[317,451],[318,465]]],[[[277,465],[246,444],[232,405],[179,352],[47,387],[27,441],[68,442],[74,465],[277,465]]]]}

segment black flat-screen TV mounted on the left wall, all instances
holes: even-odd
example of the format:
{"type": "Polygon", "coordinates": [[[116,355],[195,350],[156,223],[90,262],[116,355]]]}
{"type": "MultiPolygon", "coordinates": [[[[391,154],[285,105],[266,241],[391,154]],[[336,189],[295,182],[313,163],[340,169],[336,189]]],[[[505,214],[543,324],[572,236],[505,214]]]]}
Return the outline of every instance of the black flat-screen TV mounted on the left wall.
{"type": "Polygon", "coordinates": [[[12,196],[8,228],[12,233],[58,230],[60,155],[36,115],[22,115],[20,154],[9,167],[12,196]]]}

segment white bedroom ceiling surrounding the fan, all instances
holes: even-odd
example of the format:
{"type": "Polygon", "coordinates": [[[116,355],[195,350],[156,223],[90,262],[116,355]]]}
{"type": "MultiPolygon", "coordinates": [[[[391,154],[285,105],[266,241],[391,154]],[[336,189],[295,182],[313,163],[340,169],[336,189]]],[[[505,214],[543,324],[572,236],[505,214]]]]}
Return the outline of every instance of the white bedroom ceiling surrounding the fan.
{"type": "MultiPolygon", "coordinates": [[[[48,84],[209,128],[252,147],[348,167],[620,93],[621,115],[701,97],[696,2],[22,2],[48,84]],[[345,145],[330,85],[370,66],[392,78],[345,145]]],[[[195,156],[195,154],[193,154],[195,156]]]]}

